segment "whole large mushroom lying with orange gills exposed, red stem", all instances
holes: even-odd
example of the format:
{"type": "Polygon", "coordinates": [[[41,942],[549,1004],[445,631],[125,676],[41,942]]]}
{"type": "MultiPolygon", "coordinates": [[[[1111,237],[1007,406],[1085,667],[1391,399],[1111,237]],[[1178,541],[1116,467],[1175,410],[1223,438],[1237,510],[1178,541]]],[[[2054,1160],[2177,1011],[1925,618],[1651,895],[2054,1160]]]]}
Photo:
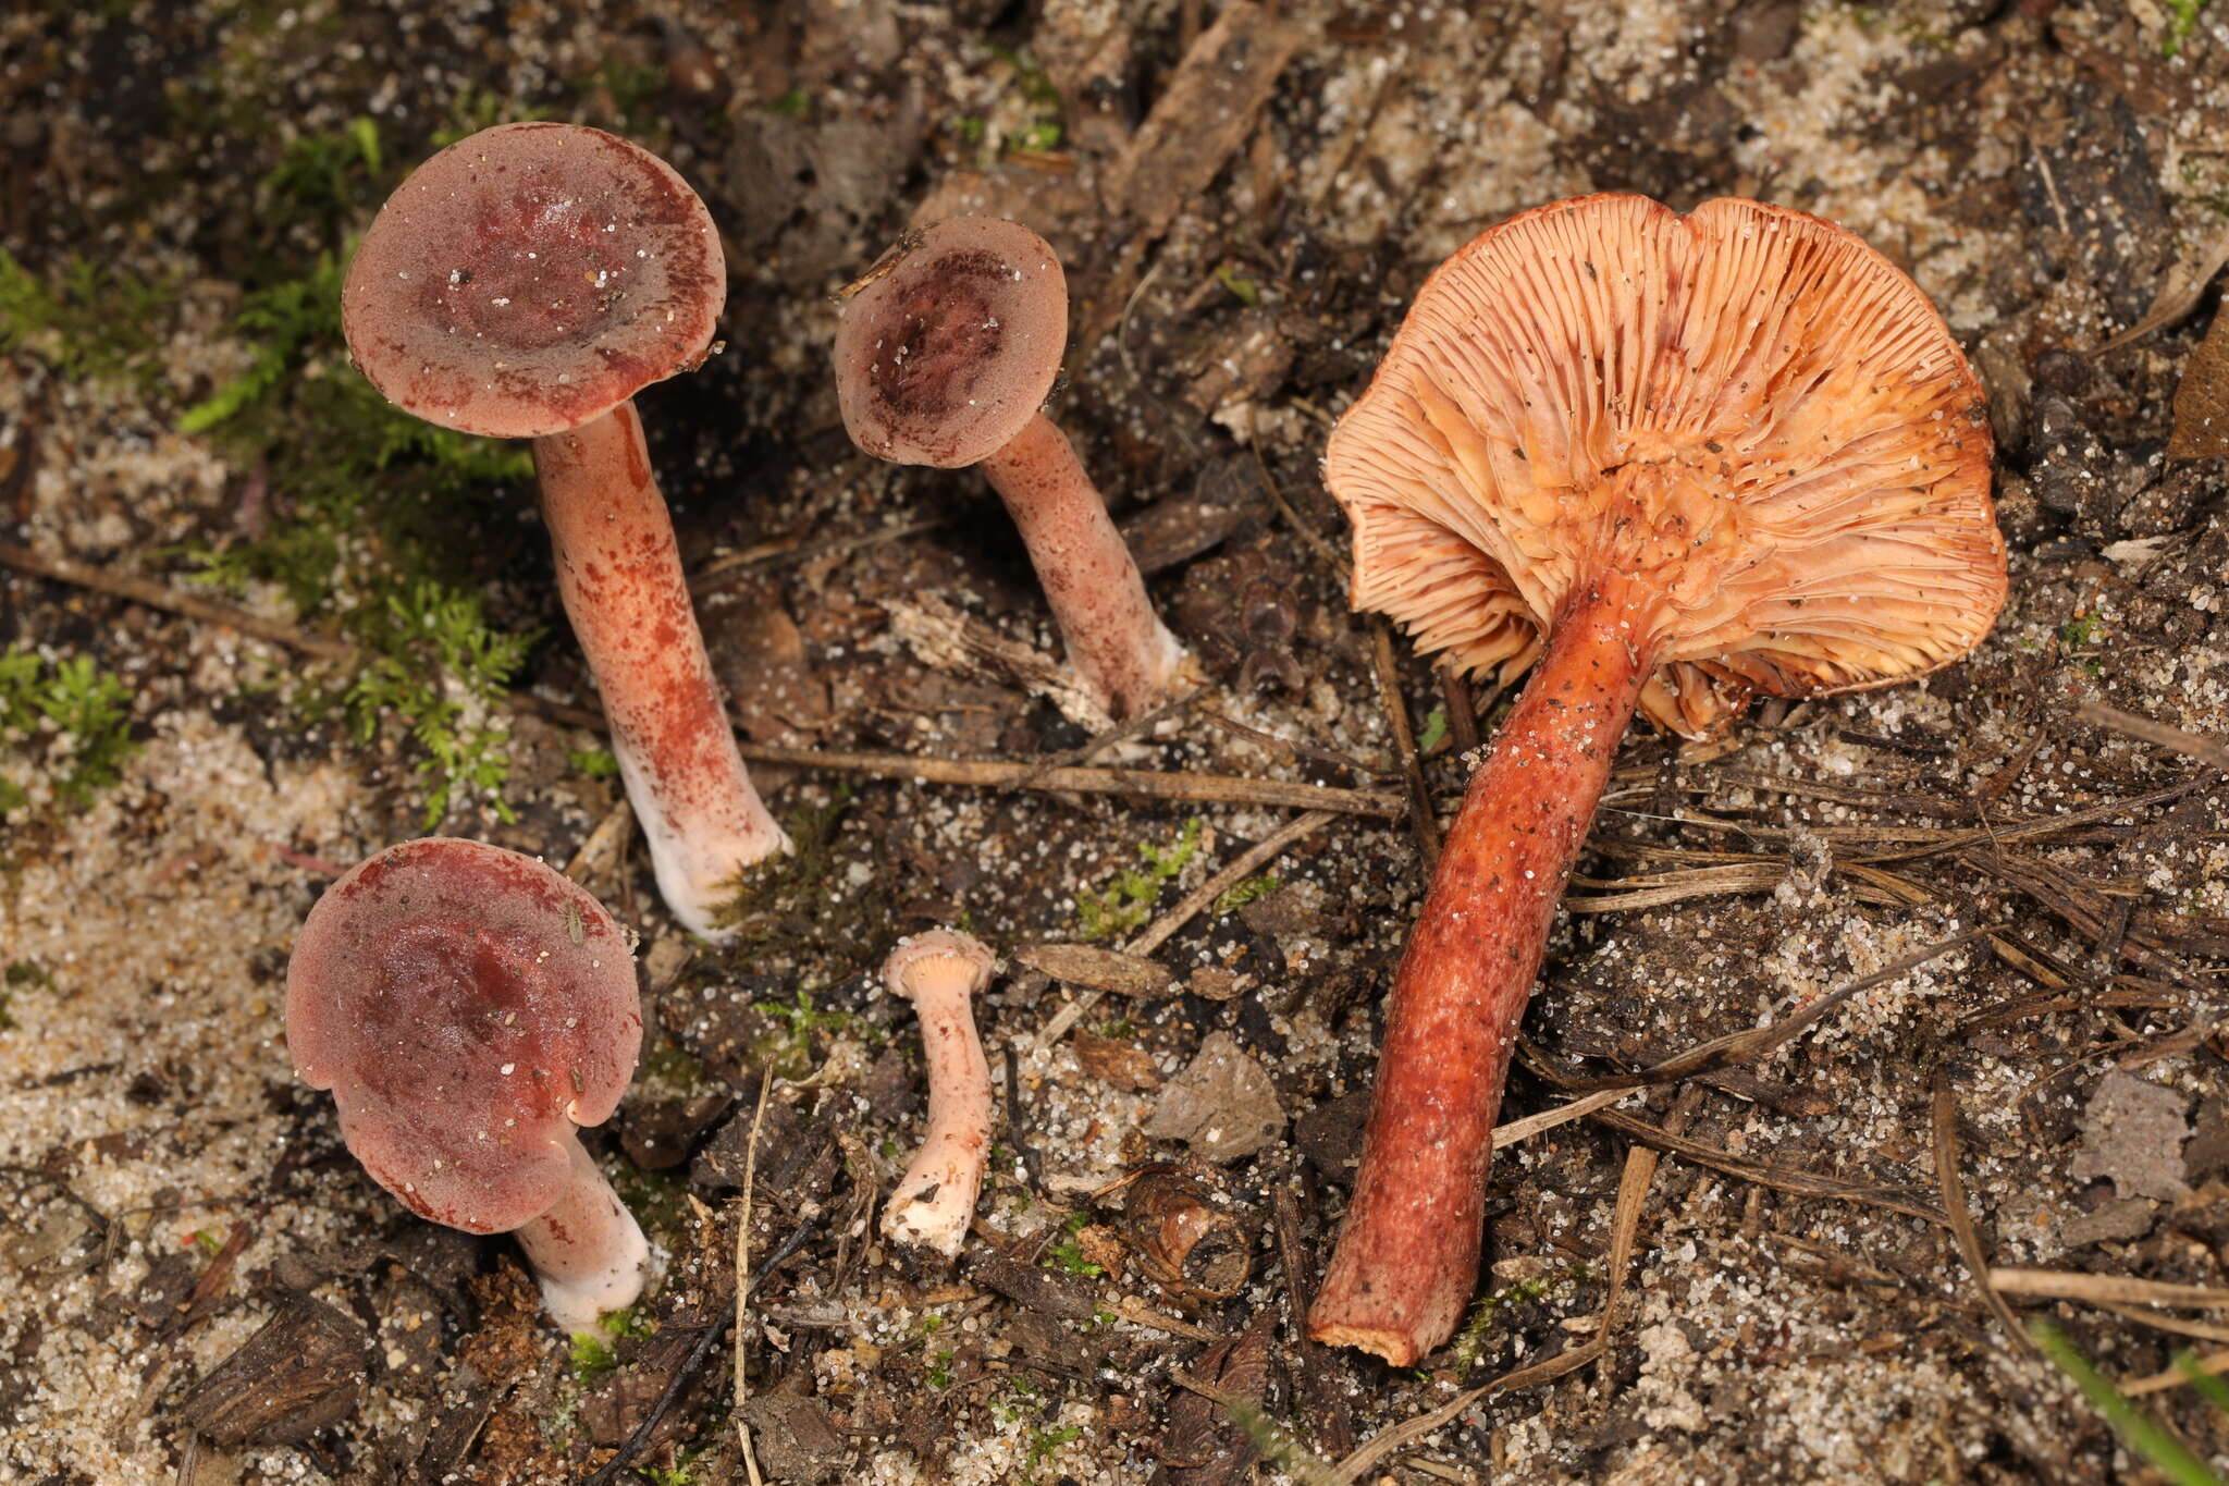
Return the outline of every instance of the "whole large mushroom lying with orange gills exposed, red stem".
{"type": "Polygon", "coordinates": [[[1353,606],[1531,684],[1402,956],[1308,1332],[1413,1363],[1478,1281],[1493,1116],[1565,878],[1638,706],[1946,666],[2004,604],[1988,405],[1926,296],[1832,223],[1585,196],[1440,265],[1324,475],[1353,606]]]}

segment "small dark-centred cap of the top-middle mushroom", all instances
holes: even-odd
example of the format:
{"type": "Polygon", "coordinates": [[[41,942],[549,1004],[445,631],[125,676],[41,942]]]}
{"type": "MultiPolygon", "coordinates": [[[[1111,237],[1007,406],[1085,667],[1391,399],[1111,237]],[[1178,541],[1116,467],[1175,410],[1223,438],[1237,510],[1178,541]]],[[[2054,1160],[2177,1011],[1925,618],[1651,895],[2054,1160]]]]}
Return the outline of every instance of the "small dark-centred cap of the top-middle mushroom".
{"type": "Polygon", "coordinates": [[[845,303],[843,426],[894,463],[979,463],[1045,403],[1065,348],[1068,276],[1052,245],[996,216],[941,221],[845,303]]]}

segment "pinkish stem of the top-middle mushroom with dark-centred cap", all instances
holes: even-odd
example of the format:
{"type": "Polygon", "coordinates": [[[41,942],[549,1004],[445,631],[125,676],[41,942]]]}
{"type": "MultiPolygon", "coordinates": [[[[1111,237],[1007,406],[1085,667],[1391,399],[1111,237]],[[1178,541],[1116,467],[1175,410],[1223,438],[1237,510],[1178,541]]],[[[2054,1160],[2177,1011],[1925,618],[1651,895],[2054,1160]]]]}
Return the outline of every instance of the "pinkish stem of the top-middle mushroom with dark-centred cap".
{"type": "Polygon", "coordinates": [[[1039,412],[981,468],[1021,528],[1068,662],[1117,717],[1135,717],[1168,695],[1184,646],[1152,610],[1146,579],[1068,434],[1039,412]]]}

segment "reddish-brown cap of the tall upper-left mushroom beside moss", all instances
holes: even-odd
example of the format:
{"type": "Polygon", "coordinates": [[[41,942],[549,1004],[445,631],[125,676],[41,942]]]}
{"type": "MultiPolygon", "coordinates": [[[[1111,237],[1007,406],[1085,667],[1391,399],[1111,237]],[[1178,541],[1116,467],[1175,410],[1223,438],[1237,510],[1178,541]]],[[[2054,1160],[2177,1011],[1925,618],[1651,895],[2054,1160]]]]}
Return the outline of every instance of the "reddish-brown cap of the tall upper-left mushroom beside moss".
{"type": "Polygon", "coordinates": [[[341,327],[397,408],[528,439],[698,365],[724,301],[711,214],[671,165],[602,129],[499,125],[395,189],[341,327]]]}

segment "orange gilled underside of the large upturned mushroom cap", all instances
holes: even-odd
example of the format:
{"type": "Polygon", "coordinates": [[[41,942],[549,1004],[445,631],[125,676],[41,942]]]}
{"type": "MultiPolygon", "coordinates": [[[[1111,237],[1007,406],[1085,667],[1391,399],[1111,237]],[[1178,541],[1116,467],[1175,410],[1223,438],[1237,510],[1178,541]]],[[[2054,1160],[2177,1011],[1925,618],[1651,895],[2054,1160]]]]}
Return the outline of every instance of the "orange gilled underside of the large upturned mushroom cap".
{"type": "Polygon", "coordinates": [[[1574,584],[1656,595],[1641,711],[1701,735],[1752,693],[1944,666],[2004,604],[1979,383],[1857,236],[1752,201],[1583,196],[1424,283],[1324,477],[1353,606],[1502,682],[1574,584]]]}

